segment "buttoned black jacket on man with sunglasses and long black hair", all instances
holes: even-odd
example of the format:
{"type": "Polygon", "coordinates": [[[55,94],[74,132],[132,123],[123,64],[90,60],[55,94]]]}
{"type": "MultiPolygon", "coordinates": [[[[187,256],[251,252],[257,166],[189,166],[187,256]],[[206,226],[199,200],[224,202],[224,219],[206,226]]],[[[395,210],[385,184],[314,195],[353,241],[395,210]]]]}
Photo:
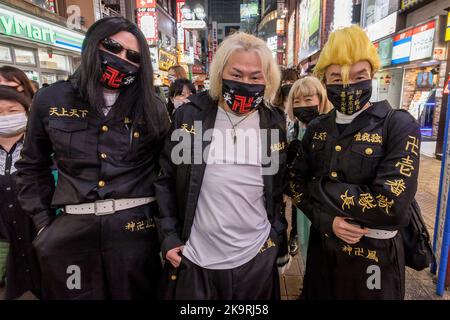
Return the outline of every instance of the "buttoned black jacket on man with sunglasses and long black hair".
{"type": "Polygon", "coordinates": [[[117,116],[120,103],[119,96],[105,116],[69,81],[37,92],[16,166],[20,204],[38,229],[48,224],[52,208],[154,195],[158,157],[170,125],[167,112],[158,105],[160,130],[150,133],[144,123],[117,116]],[[56,189],[52,154],[58,169],[56,189]]]}

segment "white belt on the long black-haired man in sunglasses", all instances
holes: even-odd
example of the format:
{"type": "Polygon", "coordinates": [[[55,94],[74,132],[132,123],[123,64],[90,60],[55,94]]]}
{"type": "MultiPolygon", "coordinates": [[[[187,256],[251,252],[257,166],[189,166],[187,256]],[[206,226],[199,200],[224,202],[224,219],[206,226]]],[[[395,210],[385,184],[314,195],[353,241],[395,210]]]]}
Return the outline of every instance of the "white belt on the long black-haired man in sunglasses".
{"type": "Polygon", "coordinates": [[[64,212],[68,214],[95,214],[96,216],[102,216],[125,209],[139,207],[155,200],[155,197],[98,200],[91,203],[65,206],[64,212]]]}

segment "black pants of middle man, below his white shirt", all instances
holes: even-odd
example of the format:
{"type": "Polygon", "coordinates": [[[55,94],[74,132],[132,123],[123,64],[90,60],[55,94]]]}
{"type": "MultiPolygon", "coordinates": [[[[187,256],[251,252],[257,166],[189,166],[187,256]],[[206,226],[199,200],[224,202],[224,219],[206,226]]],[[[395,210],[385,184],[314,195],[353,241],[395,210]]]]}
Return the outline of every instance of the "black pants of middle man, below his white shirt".
{"type": "Polygon", "coordinates": [[[177,300],[279,300],[278,246],[273,238],[252,260],[229,270],[205,269],[186,257],[178,270],[166,262],[162,290],[172,287],[172,298],[177,300]]]}

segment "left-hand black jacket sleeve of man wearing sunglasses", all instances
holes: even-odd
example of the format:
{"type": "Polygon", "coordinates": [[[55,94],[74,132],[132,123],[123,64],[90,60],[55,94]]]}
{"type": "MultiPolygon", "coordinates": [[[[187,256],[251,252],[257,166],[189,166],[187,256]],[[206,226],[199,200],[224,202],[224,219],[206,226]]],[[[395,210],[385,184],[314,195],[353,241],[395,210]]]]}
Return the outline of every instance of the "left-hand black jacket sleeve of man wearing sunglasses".
{"type": "Polygon", "coordinates": [[[34,97],[21,159],[16,163],[18,200],[32,216],[37,230],[49,224],[54,215],[51,201],[55,191],[51,173],[53,149],[44,126],[48,105],[42,92],[45,90],[38,91],[34,97]]]}

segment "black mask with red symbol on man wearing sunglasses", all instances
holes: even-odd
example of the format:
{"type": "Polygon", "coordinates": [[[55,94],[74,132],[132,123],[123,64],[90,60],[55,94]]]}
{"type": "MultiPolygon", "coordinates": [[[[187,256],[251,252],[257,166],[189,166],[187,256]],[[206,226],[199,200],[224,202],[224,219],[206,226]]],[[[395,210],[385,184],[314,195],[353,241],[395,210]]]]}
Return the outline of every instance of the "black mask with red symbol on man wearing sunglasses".
{"type": "Polygon", "coordinates": [[[139,72],[138,67],[109,52],[99,51],[103,70],[100,82],[106,89],[122,89],[134,82],[139,72]]]}

